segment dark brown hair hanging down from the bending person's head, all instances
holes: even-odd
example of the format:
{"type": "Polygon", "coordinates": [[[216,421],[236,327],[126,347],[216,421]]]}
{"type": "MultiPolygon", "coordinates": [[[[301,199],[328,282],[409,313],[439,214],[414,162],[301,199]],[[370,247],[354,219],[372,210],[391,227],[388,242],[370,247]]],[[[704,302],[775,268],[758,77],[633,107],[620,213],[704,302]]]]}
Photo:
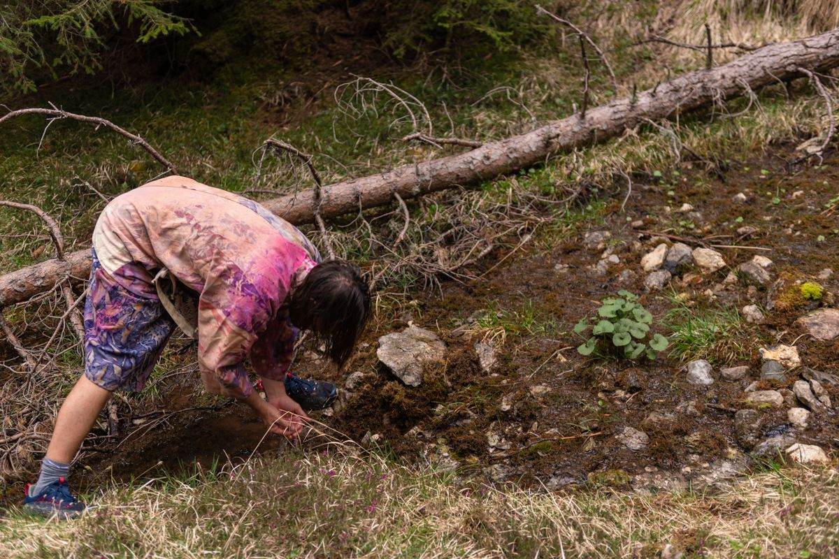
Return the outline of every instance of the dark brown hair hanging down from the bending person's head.
{"type": "Polygon", "coordinates": [[[315,334],[315,343],[338,365],[349,359],[369,317],[367,282],[355,264],[343,260],[312,268],[289,298],[291,323],[315,334]]]}

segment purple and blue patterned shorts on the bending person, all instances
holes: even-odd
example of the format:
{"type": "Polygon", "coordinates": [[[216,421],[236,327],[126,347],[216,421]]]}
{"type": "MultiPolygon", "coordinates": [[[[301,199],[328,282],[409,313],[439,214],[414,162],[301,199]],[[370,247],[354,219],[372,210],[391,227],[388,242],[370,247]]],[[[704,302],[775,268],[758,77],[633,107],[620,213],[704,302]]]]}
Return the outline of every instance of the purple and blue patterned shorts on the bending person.
{"type": "Polygon", "coordinates": [[[149,271],[138,264],[112,276],[93,251],[85,301],[85,376],[107,391],[143,390],[175,328],[148,278],[149,271]]]}

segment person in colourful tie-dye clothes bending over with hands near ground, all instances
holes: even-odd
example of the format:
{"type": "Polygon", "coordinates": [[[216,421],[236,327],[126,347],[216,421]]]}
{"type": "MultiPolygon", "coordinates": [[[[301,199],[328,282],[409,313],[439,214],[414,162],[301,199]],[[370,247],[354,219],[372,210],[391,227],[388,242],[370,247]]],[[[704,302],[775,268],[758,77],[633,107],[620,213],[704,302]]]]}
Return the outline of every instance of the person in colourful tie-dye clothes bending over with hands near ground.
{"type": "Polygon", "coordinates": [[[70,462],[112,392],[143,389],[176,323],[197,338],[208,391],[245,402],[269,431],[293,439],[308,421],[301,404],[323,407],[337,395],[330,383],[289,372],[299,330],[342,365],[370,314],[356,266],[320,262],[300,230],[260,204],[185,177],[113,199],[96,222],[92,253],[85,372],[23,501],[41,515],[85,510],[67,484],[70,462]],[[265,400],[248,379],[248,357],[265,400]]]}

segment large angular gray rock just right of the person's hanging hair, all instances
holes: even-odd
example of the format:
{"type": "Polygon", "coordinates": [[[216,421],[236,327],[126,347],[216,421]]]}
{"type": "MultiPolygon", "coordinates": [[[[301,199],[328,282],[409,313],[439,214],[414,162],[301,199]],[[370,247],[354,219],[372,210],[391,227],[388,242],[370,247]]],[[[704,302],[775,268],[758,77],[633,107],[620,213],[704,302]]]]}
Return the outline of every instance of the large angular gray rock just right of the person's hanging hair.
{"type": "Polygon", "coordinates": [[[426,365],[442,362],[446,344],[430,330],[409,326],[378,339],[378,360],[408,386],[420,386],[426,365]]]}

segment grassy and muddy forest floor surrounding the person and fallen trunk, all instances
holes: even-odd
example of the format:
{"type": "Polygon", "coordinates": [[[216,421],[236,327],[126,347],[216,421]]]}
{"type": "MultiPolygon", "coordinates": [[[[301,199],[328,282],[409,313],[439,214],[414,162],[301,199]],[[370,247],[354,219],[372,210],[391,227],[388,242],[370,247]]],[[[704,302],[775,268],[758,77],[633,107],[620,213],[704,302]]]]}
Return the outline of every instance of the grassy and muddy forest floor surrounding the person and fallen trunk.
{"type": "MultiPolygon", "coordinates": [[[[684,61],[610,51],[622,82],[639,87],[660,78],[653,54],[684,61]]],[[[272,135],[315,153],[326,182],[459,149],[402,142],[414,131],[410,118],[381,91],[361,112],[336,103],[358,101],[331,91],[376,70],[364,66],[370,60],[91,94],[58,85],[26,101],[60,94],[65,109],[138,132],[195,179],[257,199],[310,185],[281,158],[255,173],[258,147],[272,135]]],[[[461,74],[378,70],[456,137],[507,137],[571,114],[579,101],[567,77],[580,64],[565,52],[487,56],[461,74]]],[[[611,96],[606,82],[592,76],[593,104],[611,96]]],[[[823,100],[804,85],[772,86],[755,101],[409,201],[399,246],[396,204],[336,220],[338,253],[383,272],[375,316],[347,368],[305,346],[295,363],[298,375],[341,386],[336,406],[312,413],[315,429],[300,448],[264,437],[243,406],[198,388],[195,349],[175,339],[146,391],[117,398],[119,434],[108,434],[103,417],[74,464],[75,487],[100,505],[81,522],[34,522],[15,509],[81,369],[75,340],[61,331],[48,374],[24,396],[31,385],[18,355],[0,341],[3,434],[28,434],[26,444],[3,447],[0,555],[839,555],[839,386],[831,382],[839,341],[815,339],[797,322],[831,308],[839,289],[839,157],[831,148],[824,160],[794,163],[795,148],[826,127],[823,100]],[[435,241],[450,230],[471,241],[435,241]],[[481,260],[439,273],[490,243],[481,260]],[[725,266],[708,272],[685,258],[649,287],[642,258],[677,243],[717,246],[725,266]],[[771,261],[766,277],[740,268],[754,256],[771,261]],[[800,297],[803,282],[818,283],[821,298],[800,297]],[[652,313],[651,334],[670,340],[656,360],[577,352],[585,339],[575,324],[619,290],[637,294],[652,313]],[[410,326],[446,344],[415,387],[377,355],[381,337],[410,326]],[[779,344],[796,347],[800,366],[762,379],[759,350],[779,344]],[[709,362],[712,384],[688,381],[696,360],[709,362]],[[741,378],[722,375],[739,365],[748,367],[741,378]],[[832,404],[814,404],[801,422],[789,409],[807,405],[792,389],[813,370],[832,404]],[[766,400],[750,401],[755,390],[766,400]],[[785,452],[793,443],[820,447],[828,462],[794,466],[785,452]]],[[[43,130],[43,121],[23,119],[0,137],[0,198],[39,204],[68,246],[89,246],[102,198],[158,169],[105,132],[68,122],[41,138],[43,130]]],[[[3,216],[0,272],[50,256],[37,220],[3,216]]],[[[44,298],[4,316],[37,350],[62,313],[44,298]]]]}

